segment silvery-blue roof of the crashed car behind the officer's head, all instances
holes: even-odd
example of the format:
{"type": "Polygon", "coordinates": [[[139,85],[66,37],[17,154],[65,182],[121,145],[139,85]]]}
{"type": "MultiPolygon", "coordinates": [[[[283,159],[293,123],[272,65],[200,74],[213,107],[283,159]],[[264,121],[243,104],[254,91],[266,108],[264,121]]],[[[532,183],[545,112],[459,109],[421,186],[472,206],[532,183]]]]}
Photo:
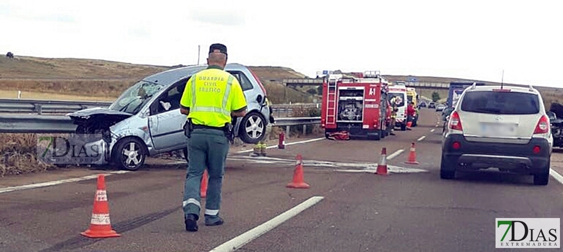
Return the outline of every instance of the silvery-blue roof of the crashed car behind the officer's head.
{"type": "MultiPolygon", "coordinates": [[[[166,86],[170,86],[171,84],[174,84],[177,80],[180,80],[185,77],[189,77],[190,75],[193,75],[206,68],[207,65],[184,66],[182,68],[170,69],[170,70],[162,71],[160,73],[149,75],[148,77],[143,78],[143,80],[146,80],[148,82],[163,84],[166,87],[166,86]]],[[[247,69],[246,66],[238,63],[229,63],[225,66],[226,71],[229,70],[244,71],[246,69],[247,69]]]]}

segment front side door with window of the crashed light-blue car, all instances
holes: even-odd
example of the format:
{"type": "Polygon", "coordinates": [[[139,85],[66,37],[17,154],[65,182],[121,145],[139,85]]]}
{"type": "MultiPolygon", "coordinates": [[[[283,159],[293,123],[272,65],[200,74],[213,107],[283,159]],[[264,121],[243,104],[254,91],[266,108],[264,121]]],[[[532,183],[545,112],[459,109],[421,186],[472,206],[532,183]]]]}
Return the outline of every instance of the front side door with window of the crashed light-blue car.
{"type": "Polygon", "coordinates": [[[150,106],[149,131],[158,152],[178,150],[187,145],[183,128],[186,115],[180,113],[180,99],[187,79],[173,84],[150,106]]]}

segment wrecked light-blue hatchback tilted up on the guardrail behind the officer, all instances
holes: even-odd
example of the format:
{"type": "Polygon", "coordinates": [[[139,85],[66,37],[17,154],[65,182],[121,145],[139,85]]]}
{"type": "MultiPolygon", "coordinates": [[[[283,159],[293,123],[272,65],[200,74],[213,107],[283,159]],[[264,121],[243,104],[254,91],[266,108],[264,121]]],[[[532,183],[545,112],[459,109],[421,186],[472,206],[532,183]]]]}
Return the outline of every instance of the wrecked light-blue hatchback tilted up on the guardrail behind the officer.
{"type": "MultiPolygon", "coordinates": [[[[137,170],[146,156],[182,150],[187,159],[187,138],[180,113],[180,98],[191,75],[207,66],[188,66],[150,75],[132,87],[109,108],[92,108],[70,113],[77,133],[100,133],[103,140],[91,143],[103,150],[106,163],[137,170]]],[[[248,103],[244,118],[236,118],[235,137],[257,143],[265,137],[266,125],[274,123],[266,89],[246,66],[227,64],[242,86],[248,103]],[[267,120],[266,120],[267,119],[267,120]]],[[[234,121],[233,121],[234,122],[234,121]]]]}

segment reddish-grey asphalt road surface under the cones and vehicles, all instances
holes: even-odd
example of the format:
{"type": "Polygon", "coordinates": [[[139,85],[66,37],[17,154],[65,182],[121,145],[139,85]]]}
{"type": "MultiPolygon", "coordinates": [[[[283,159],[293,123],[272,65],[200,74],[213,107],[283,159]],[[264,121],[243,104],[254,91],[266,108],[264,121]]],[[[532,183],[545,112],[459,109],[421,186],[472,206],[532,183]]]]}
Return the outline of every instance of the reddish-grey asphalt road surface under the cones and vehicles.
{"type": "MultiPolygon", "coordinates": [[[[495,218],[563,215],[563,186],[555,179],[534,186],[531,177],[489,172],[441,180],[438,120],[433,110],[423,109],[419,127],[382,141],[312,141],[269,149],[261,159],[235,150],[223,188],[226,223],[201,223],[195,233],[184,230],[181,161],[155,161],[106,177],[118,238],[79,235],[90,222],[95,179],[5,192],[0,251],[209,251],[312,196],[324,198],[239,251],[497,251],[502,249],[495,249],[495,218]],[[405,164],[413,142],[418,165],[405,164]],[[388,176],[368,172],[380,161],[382,147],[388,176]],[[297,154],[309,189],[285,187],[297,154]]],[[[68,173],[96,171],[70,170],[50,179],[68,173]]]]}

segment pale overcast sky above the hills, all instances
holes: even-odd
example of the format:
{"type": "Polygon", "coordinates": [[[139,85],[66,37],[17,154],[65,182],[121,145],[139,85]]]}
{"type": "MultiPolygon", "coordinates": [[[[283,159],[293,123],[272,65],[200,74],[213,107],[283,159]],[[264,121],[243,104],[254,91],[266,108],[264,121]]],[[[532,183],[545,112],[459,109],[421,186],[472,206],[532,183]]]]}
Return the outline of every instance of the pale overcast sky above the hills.
{"type": "Polygon", "coordinates": [[[341,69],[500,81],[504,69],[507,83],[563,87],[562,7],[496,0],[0,0],[0,52],[191,65],[198,45],[204,63],[209,45],[220,42],[230,62],[286,66],[311,77],[341,69]]]}

